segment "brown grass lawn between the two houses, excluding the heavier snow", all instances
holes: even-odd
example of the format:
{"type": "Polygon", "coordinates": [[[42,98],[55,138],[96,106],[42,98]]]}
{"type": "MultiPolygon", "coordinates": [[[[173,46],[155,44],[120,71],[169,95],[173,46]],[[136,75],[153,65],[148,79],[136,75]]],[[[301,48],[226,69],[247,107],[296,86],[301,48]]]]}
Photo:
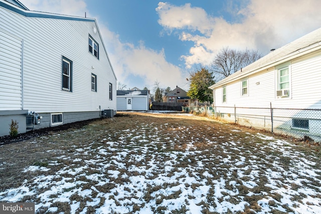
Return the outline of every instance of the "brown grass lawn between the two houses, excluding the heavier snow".
{"type": "MultiPolygon", "coordinates": [[[[237,204],[242,200],[248,202],[248,206],[243,210],[244,213],[254,213],[261,210],[258,200],[265,197],[266,192],[274,200],[269,201],[271,207],[277,207],[281,204],[281,195],[271,193],[272,188],[268,187],[270,181],[266,177],[266,170],[277,171],[275,163],[283,169],[293,167],[293,157],[284,156],[277,149],[271,149],[266,145],[266,141],[255,137],[256,130],[246,127],[240,127],[233,124],[216,122],[206,117],[196,117],[187,115],[175,114],[146,114],[139,112],[118,112],[119,116],[114,118],[105,118],[95,120],[89,124],[85,124],[81,128],[71,128],[61,132],[50,132],[41,137],[33,138],[27,141],[11,143],[0,147],[0,161],[4,163],[0,165],[0,191],[9,188],[22,186],[25,182],[32,182],[34,177],[39,175],[55,175],[60,169],[67,167],[72,169],[76,175],[69,173],[61,174],[65,178],[71,178],[70,182],[81,181],[81,186],[77,188],[91,189],[93,187],[99,192],[113,193],[109,198],[100,196],[100,206],[107,199],[114,199],[115,204],[121,205],[117,195],[118,191],[114,191],[117,185],[126,185],[130,182],[129,176],[144,176],[146,179],[154,179],[160,173],[165,173],[164,163],[170,164],[173,167],[168,171],[169,177],[175,177],[177,173],[184,169],[186,176],[195,177],[197,182],[185,183],[187,189],[193,191],[200,188],[200,182],[206,180],[210,186],[215,184],[215,181],[225,179],[226,183],[222,191],[223,197],[217,198],[219,201],[230,198],[230,202],[237,204]],[[240,130],[235,132],[231,130],[240,130]],[[133,130],[135,130],[134,134],[133,130]],[[132,134],[132,135],[130,135],[132,134]],[[130,135],[130,137],[128,137],[130,135]],[[117,142],[118,147],[111,146],[110,142],[117,142]],[[193,144],[193,145],[192,145],[193,144]],[[142,151],[141,147],[147,147],[147,151],[142,151]],[[99,153],[100,149],[105,149],[105,153],[99,153]],[[112,162],[115,156],[115,149],[128,149],[128,154],[123,156],[123,159],[117,160],[124,164],[124,168],[119,168],[117,164],[112,162]],[[174,160],[168,152],[185,152],[199,151],[197,155],[181,153],[174,160]],[[253,157],[255,156],[255,157],[253,157]],[[58,158],[59,157],[59,158],[58,158]],[[86,163],[86,160],[95,160],[95,157],[103,157],[97,162],[86,163]],[[141,160],[137,160],[143,157],[141,160]],[[79,159],[77,159],[79,158],[79,159]],[[244,158],[242,165],[235,165],[244,158]],[[159,161],[157,171],[150,173],[140,172],[141,168],[149,169],[148,165],[151,159],[159,161]],[[252,164],[251,161],[256,161],[252,164]],[[53,164],[55,163],[55,164],[53,164]],[[199,164],[202,164],[200,166],[199,164]],[[27,171],[23,170],[31,165],[39,167],[47,167],[49,171],[27,171]],[[101,172],[99,165],[105,165],[105,171],[101,172]],[[264,168],[256,168],[256,166],[264,166],[264,168]],[[83,170],[77,172],[76,169],[83,167],[83,170]],[[128,170],[132,167],[131,170],[128,170]],[[247,167],[247,168],[245,168],[247,167]],[[118,170],[119,174],[114,176],[108,170],[118,170]],[[84,173],[84,174],[82,174],[84,173]],[[97,177],[96,181],[86,178],[86,176],[96,176],[96,174],[104,173],[104,176],[97,177]],[[211,177],[204,174],[208,173],[211,177]],[[256,175],[257,173],[257,175],[256,175]],[[240,174],[243,174],[240,177],[240,174]],[[243,182],[257,180],[257,186],[253,188],[247,187],[243,182]],[[98,185],[98,180],[106,181],[103,185],[98,185]],[[228,192],[238,192],[238,195],[232,196],[228,192]],[[249,192],[253,193],[248,196],[249,192]]],[[[265,133],[271,136],[271,134],[265,133]]],[[[281,139],[285,139],[280,137],[281,139]]],[[[302,145],[301,142],[292,142],[296,145],[302,145]]],[[[291,147],[289,150],[297,151],[299,156],[309,154],[313,156],[313,161],[320,166],[315,151],[320,150],[320,146],[308,145],[303,147],[291,147]]],[[[1,163],[0,162],[0,163],[1,163]]],[[[61,176],[56,177],[54,181],[61,180],[61,176]]],[[[101,176],[101,175],[99,175],[101,176]]],[[[185,175],[180,175],[176,179],[184,179],[185,175]]],[[[306,178],[306,177],[304,177],[306,178]]],[[[178,181],[164,182],[162,185],[147,185],[144,190],[142,199],[147,203],[155,200],[155,206],[152,207],[154,212],[162,213],[167,210],[167,207],[162,205],[166,199],[175,199],[180,197],[182,190],[177,190],[169,194],[159,193],[161,189],[171,189],[178,186],[178,181]]],[[[285,182],[285,178],[277,178],[280,182],[285,182]]],[[[306,179],[308,182],[303,183],[306,186],[319,186],[316,178],[306,179]]],[[[291,189],[296,190],[301,188],[294,182],[287,183],[291,189]]],[[[49,187],[48,187],[49,188],[49,187]]],[[[72,191],[75,187],[64,189],[64,191],[72,191]]],[[[124,187],[122,190],[131,194],[135,198],[135,191],[129,187],[124,187]]],[[[40,190],[46,191],[46,188],[40,190]]],[[[41,193],[40,192],[40,193],[41,193]]],[[[98,192],[92,191],[91,197],[97,197],[98,192]]],[[[204,213],[210,213],[209,206],[215,207],[216,192],[214,188],[210,188],[207,200],[201,201],[204,213]]],[[[57,195],[58,197],[58,195],[57,195]]],[[[126,197],[122,198],[125,199],[126,197]]],[[[195,198],[193,195],[188,195],[187,199],[195,198]]],[[[294,196],[293,200],[297,203],[301,202],[301,196],[294,196]]],[[[26,197],[25,201],[35,201],[37,198],[26,197]]],[[[86,201],[90,198],[84,198],[77,193],[71,193],[71,201],[80,201],[78,211],[82,211],[86,206],[86,201]]],[[[187,204],[186,204],[187,205],[187,204]]],[[[51,206],[61,207],[59,212],[68,213],[70,205],[65,202],[55,202],[51,206]]],[[[91,212],[99,205],[87,206],[87,212],[91,212]]],[[[144,204],[131,204],[132,212],[138,211],[144,204]]],[[[45,213],[47,208],[43,208],[40,213],[45,213]]],[[[172,210],[172,213],[186,212],[186,206],[183,205],[180,209],[172,210]]],[[[277,209],[272,212],[277,213],[277,209]]]]}

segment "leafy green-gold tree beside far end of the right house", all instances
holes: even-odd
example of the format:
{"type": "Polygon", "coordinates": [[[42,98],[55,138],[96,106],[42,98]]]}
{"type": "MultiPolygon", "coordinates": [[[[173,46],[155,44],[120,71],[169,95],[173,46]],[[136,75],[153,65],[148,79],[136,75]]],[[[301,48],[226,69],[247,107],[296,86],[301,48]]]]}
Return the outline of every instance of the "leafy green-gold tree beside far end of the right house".
{"type": "Polygon", "coordinates": [[[209,89],[211,85],[215,84],[213,72],[202,68],[200,71],[191,73],[188,81],[190,82],[190,90],[187,92],[187,96],[198,99],[200,102],[213,102],[213,92],[209,89]]]}

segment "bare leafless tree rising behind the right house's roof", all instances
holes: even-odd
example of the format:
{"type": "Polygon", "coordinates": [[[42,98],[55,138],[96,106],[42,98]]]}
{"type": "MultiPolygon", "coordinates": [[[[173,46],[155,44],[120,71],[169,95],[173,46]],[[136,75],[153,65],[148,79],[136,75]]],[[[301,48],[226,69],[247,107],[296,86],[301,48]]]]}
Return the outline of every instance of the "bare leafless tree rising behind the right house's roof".
{"type": "Polygon", "coordinates": [[[262,55],[259,54],[258,51],[248,49],[245,51],[237,51],[226,47],[221,49],[213,59],[210,70],[217,78],[216,81],[219,81],[261,57],[262,55]]]}

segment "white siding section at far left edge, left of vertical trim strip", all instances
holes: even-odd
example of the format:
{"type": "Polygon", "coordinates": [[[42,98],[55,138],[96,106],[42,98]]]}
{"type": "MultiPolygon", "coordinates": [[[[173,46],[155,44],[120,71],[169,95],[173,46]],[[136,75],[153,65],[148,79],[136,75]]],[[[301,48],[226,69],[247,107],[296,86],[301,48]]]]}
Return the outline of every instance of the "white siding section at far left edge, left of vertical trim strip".
{"type": "Polygon", "coordinates": [[[0,110],[22,109],[22,40],[0,30],[0,110]]]}

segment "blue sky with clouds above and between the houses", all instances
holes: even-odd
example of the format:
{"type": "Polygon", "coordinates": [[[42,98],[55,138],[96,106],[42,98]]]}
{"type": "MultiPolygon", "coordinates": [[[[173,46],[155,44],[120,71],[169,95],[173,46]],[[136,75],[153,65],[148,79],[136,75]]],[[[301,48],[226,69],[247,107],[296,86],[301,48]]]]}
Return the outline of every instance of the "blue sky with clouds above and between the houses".
{"type": "Polygon", "coordinates": [[[95,18],[118,82],[176,85],[223,47],[269,50],[321,27],[319,0],[21,0],[32,11],[95,18]]]}

